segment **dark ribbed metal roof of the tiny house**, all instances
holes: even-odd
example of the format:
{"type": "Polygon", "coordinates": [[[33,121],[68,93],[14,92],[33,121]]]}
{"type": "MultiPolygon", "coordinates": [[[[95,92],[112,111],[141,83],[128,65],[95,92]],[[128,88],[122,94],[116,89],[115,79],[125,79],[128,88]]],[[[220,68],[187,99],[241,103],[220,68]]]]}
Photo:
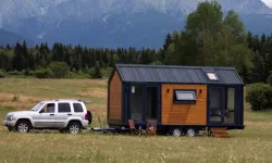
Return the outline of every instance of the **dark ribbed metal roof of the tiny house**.
{"type": "Polygon", "coordinates": [[[116,64],[116,71],[127,83],[244,85],[234,67],[116,64]],[[210,80],[206,72],[214,72],[219,80],[210,80]]]}

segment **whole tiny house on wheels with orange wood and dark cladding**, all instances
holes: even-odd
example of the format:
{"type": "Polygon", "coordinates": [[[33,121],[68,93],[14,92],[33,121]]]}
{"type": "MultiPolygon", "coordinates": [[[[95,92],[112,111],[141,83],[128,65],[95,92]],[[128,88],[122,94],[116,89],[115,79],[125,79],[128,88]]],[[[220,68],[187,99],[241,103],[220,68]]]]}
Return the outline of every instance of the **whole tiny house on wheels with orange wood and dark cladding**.
{"type": "Polygon", "coordinates": [[[244,129],[244,83],[233,67],[118,64],[109,78],[110,127],[146,127],[174,136],[244,129]]]}

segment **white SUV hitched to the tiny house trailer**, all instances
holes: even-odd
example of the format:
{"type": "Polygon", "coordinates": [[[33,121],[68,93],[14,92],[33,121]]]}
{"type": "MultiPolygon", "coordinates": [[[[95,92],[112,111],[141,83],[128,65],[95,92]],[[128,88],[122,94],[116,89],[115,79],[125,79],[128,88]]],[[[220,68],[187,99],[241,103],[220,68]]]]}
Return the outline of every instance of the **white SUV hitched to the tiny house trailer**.
{"type": "Polygon", "coordinates": [[[91,123],[91,113],[81,100],[40,101],[29,111],[10,112],[3,125],[9,130],[27,133],[30,129],[59,129],[81,133],[91,123]]]}

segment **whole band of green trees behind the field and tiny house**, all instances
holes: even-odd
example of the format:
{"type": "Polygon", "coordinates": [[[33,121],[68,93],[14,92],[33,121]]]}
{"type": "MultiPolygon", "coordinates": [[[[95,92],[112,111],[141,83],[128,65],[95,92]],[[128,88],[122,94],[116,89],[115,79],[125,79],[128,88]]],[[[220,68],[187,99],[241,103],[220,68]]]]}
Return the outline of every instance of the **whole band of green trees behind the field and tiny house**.
{"type": "Polygon", "coordinates": [[[66,77],[72,73],[100,78],[109,75],[107,72],[116,63],[234,66],[245,83],[267,83],[272,71],[272,35],[245,32],[237,13],[231,10],[224,14],[213,1],[199,3],[188,14],[184,30],[168,34],[159,50],[62,43],[30,48],[25,41],[0,48],[0,68],[10,74],[66,77]],[[54,74],[61,67],[64,75],[54,74]]]}

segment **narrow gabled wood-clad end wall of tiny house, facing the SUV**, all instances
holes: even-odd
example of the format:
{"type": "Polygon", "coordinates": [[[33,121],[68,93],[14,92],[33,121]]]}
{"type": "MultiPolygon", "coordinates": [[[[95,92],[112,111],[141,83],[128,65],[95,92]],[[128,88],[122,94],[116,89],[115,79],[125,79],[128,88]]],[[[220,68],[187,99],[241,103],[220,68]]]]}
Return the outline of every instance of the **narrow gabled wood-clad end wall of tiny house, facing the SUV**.
{"type": "Polygon", "coordinates": [[[109,118],[121,120],[122,118],[122,82],[115,71],[110,82],[110,105],[109,105],[109,118]]]}

